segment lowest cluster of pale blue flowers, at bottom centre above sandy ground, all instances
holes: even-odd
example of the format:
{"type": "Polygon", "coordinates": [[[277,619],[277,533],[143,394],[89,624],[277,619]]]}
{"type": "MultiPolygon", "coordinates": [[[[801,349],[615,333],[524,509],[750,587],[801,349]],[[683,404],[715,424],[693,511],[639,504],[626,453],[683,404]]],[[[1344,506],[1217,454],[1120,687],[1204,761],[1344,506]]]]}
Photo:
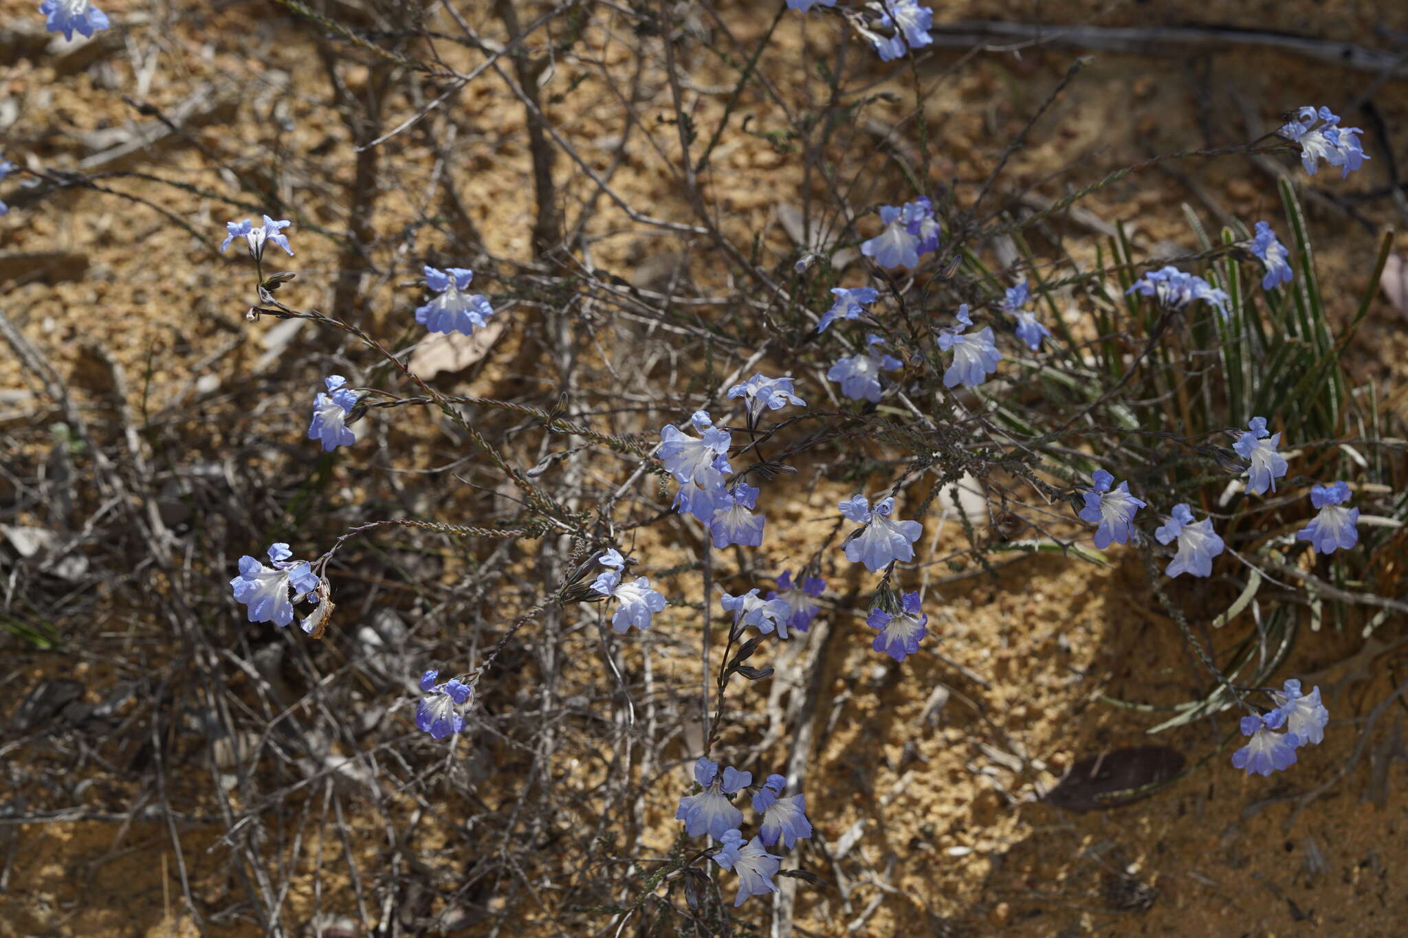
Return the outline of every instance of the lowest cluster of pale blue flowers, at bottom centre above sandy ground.
{"type": "Polygon", "coordinates": [[[674,817],[684,821],[684,831],[690,837],[708,834],[719,841],[714,862],[738,875],[734,906],[743,904],[749,896],[777,892],[773,879],[777,876],[781,858],[769,852],[765,845],[781,842],[791,849],[798,840],[811,837],[805,797],[803,795],[781,797],[787,779],[781,775],[769,775],[753,795],[753,810],[763,816],[760,831],[758,837],[748,840],[739,830],[743,811],[729,800],[729,796],[752,786],[752,772],[739,772],[732,766],[725,766],[719,772],[718,762],[701,757],[694,764],[694,780],[703,790],[681,796],[674,817]]]}

